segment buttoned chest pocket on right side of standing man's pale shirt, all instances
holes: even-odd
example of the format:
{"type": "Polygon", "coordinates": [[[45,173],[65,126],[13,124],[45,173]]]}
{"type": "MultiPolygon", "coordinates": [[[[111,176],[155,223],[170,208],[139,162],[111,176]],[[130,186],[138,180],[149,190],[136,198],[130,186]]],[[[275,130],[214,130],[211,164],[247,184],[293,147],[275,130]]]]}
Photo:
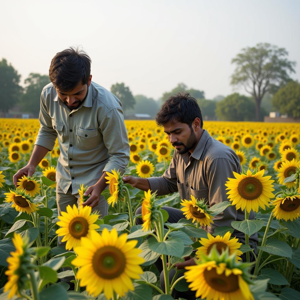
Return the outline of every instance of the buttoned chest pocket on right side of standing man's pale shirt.
{"type": "Polygon", "coordinates": [[[98,129],[85,130],[76,128],[77,147],[82,150],[92,150],[100,144],[100,134],[98,129]]]}

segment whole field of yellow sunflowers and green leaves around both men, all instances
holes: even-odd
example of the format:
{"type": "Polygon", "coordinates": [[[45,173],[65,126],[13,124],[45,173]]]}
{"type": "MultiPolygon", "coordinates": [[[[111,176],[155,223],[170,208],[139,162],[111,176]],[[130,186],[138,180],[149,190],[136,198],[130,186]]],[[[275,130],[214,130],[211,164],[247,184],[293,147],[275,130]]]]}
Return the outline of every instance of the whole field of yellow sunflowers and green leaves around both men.
{"type": "MultiPolygon", "coordinates": [[[[154,121],[125,124],[131,150],[125,175],[161,176],[174,152],[163,128],[154,121]]],[[[231,147],[243,167],[220,182],[228,199],[209,207],[193,196],[157,196],[125,184],[111,170],[103,218],[81,205],[88,198],[84,182],[78,207],[69,205],[58,217],[57,141],[35,174],[20,178],[15,188],[12,177],[29,160],[39,122],[0,119],[0,129],[0,300],[172,300],[174,291],[182,300],[190,291],[207,300],[300,299],[298,124],[206,121],[204,129],[231,147]],[[163,205],[181,209],[185,218],[167,222],[163,205]],[[231,205],[244,211],[245,220],[207,233],[205,226],[231,205]],[[248,220],[251,211],[254,220],[248,220]],[[234,229],[245,234],[245,244],[232,236],[234,229]],[[249,246],[256,232],[257,255],[249,246]],[[57,247],[58,236],[66,247],[57,247]],[[196,264],[177,268],[187,257],[196,264]]]]}

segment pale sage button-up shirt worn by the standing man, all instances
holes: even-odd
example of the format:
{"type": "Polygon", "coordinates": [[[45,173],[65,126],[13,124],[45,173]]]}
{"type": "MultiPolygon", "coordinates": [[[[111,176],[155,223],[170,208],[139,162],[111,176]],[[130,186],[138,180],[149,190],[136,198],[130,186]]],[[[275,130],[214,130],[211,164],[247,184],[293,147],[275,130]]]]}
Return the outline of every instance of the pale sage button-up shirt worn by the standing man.
{"type": "Polygon", "coordinates": [[[95,184],[104,171],[125,172],[129,143],[122,104],[101,85],[91,82],[85,101],[74,110],[58,98],[52,83],[46,85],[39,120],[35,145],[52,150],[58,137],[56,182],[65,193],[70,184],[72,194],[80,184],[95,184]]]}

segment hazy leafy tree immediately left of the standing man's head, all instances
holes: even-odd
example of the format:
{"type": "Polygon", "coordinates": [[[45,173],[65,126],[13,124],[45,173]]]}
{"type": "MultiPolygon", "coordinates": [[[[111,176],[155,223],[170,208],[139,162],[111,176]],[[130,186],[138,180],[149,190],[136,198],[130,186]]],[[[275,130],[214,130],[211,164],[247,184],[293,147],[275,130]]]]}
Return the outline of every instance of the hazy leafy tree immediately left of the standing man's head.
{"type": "Polygon", "coordinates": [[[25,93],[21,97],[20,106],[26,112],[33,113],[38,116],[40,112],[41,91],[44,86],[50,83],[48,75],[38,73],[30,73],[25,79],[25,93]]]}

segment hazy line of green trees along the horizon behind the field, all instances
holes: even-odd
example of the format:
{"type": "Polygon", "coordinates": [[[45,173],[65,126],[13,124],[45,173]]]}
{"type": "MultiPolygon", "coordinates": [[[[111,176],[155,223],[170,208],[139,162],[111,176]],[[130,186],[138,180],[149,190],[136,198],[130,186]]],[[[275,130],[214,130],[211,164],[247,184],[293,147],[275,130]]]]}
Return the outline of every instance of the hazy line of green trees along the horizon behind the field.
{"type": "MultiPolygon", "coordinates": [[[[170,95],[186,91],[197,100],[205,119],[261,121],[271,110],[299,118],[300,84],[289,76],[295,72],[296,63],[289,61],[287,56],[288,52],[284,48],[260,43],[254,47],[243,48],[232,58],[235,70],[230,83],[233,87],[242,86],[247,95],[233,93],[209,100],[205,99],[204,91],[188,88],[184,83],[166,91],[157,101],[145,95],[133,96],[124,82],[113,84],[110,90],[122,102],[125,116],[146,113],[154,117],[170,95]]],[[[19,105],[24,112],[37,117],[41,91],[50,82],[49,76],[30,73],[24,81],[24,87],[20,85],[20,77],[17,70],[2,58],[0,111],[7,113],[13,106],[19,105]]]]}

